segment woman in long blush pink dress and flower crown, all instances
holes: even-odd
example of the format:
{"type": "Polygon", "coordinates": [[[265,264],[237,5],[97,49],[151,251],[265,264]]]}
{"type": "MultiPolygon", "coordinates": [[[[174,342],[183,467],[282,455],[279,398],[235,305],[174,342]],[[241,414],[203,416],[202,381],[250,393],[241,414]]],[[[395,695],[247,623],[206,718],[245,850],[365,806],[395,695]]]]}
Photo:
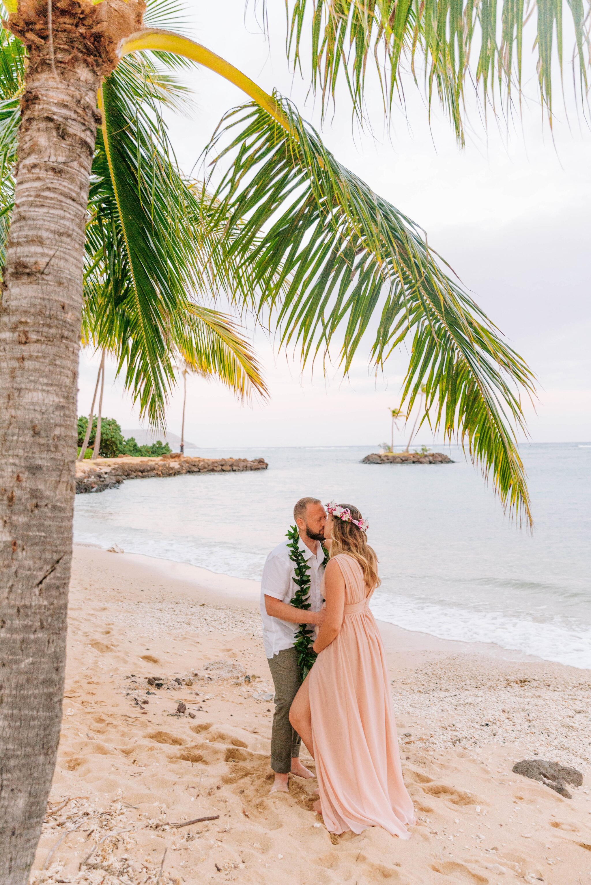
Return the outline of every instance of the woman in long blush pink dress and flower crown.
{"type": "Polygon", "coordinates": [[[382,638],[368,600],[379,586],[367,523],[351,504],[327,504],[330,562],[318,658],[290,721],[316,762],[321,812],[331,833],[383,827],[408,839],[413,803],[402,779],[382,638]]]}

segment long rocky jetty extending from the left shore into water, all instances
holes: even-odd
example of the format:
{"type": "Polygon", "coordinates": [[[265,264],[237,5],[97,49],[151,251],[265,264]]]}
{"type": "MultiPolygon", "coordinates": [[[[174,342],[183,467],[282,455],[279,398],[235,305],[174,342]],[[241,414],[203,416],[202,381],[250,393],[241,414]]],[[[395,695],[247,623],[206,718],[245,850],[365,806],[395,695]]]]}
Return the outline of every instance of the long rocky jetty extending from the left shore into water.
{"type": "Polygon", "coordinates": [[[266,470],[264,458],[184,458],[177,452],[162,458],[97,458],[76,463],[76,494],[117,489],[124,480],[183,473],[239,473],[266,470]]]}

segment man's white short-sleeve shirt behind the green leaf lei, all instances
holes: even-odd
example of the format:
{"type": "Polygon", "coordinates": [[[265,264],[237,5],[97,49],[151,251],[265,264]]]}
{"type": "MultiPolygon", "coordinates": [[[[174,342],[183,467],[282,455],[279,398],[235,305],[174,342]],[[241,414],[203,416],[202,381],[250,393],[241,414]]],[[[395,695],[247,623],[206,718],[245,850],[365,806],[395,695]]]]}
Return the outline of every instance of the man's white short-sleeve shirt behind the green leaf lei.
{"type": "MultiPolygon", "coordinates": [[[[307,559],[310,570],[310,594],[308,602],[310,611],[319,612],[322,608],[322,595],[320,585],[324,574],[324,550],[322,544],[316,543],[315,554],[305,543],[299,539],[299,550],[307,559]]],[[[287,542],[279,544],[275,550],[271,550],[265,561],[261,578],[261,618],[262,640],[265,645],[267,658],[277,655],[278,651],[290,649],[293,645],[293,637],[299,629],[298,624],[292,624],[288,620],[272,618],[265,609],[265,596],[274,596],[284,603],[290,603],[295,596],[298,585],[293,581],[293,569],[295,563],[290,559],[290,551],[287,542]]]]}

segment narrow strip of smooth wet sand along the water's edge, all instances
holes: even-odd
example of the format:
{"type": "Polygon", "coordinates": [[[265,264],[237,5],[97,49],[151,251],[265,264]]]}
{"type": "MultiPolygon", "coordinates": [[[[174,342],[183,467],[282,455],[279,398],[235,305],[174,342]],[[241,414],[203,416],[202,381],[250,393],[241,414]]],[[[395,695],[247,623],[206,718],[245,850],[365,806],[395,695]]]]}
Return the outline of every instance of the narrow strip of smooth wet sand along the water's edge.
{"type": "MultiPolygon", "coordinates": [[[[104,550],[98,544],[75,543],[74,548],[87,548],[90,550],[104,550]]],[[[202,566],[193,566],[190,563],[177,562],[174,559],[151,557],[145,553],[113,553],[111,556],[124,558],[123,561],[135,563],[138,566],[151,568],[157,574],[186,581],[193,584],[196,591],[205,591],[209,601],[215,601],[216,594],[236,603],[254,604],[259,612],[261,595],[261,582],[249,578],[237,578],[233,575],[212,572],[202,566]]],[[[556,661],[547,661],[534,655],[527,655],[519,650],[505,649],[496,643],[462,642],[455,639],[443,639],[430,633],[418,630],[409,630],[406,627],[398,627],[391,621],[375,619],[380,627],[384,648],[390,651],[413,651],[413,652],[447,652],[449,654],[474,654],[484,655],[506,661],[532,661],[556,666],[566,666],[556,661]]],[[[584,667],[576,669],[585,670],[584,667]]]]}

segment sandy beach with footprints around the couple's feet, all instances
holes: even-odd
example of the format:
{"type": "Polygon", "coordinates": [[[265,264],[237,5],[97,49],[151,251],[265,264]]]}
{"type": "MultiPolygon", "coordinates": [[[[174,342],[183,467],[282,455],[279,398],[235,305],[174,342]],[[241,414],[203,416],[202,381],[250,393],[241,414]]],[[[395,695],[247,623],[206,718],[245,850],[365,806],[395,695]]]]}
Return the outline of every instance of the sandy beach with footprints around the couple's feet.
{"type": "Polygon", "coordinates": [[[77,547],[32,882],[591,885],[589,672],[381,627],[418,818],[407,842],[331,836],[315,781],[269,797],[256,582],[77,547]],[[583,786],[567,799],[511,772],[535,756],[577,767],[583,786]],[[215,820],[185,826],[200,818],[215,820]]]}

